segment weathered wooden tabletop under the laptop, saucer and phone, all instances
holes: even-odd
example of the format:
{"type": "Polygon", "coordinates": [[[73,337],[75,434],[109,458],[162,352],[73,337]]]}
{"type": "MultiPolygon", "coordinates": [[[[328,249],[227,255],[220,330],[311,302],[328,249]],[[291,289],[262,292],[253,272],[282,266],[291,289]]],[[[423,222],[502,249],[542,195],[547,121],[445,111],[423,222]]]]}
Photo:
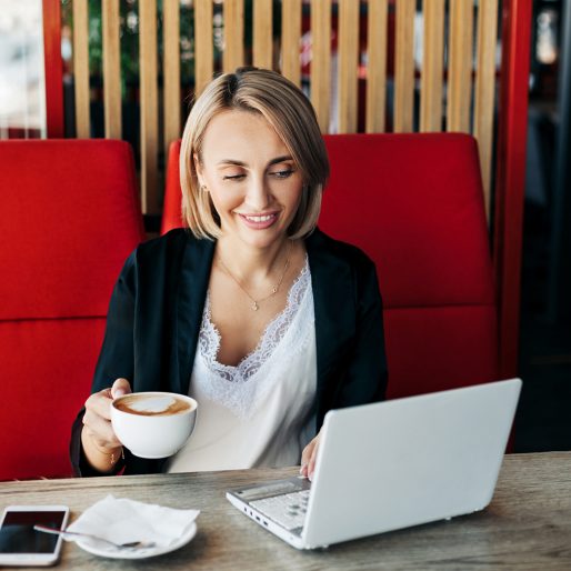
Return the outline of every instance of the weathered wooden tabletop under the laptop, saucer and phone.
{"type": "Polygon", "coordinates": [[[297,551],[242,515],[224,491],[282,478],[287,470],[242,470],[0,483],[0,508],[64,503],[72,518],[106,497],[201,510],[196,538],[144,561],[100,559],[64,543],[61,569],[550,569],[571,570],[571,452],[505,457],[483,512],[332,545],[297,551]]]}

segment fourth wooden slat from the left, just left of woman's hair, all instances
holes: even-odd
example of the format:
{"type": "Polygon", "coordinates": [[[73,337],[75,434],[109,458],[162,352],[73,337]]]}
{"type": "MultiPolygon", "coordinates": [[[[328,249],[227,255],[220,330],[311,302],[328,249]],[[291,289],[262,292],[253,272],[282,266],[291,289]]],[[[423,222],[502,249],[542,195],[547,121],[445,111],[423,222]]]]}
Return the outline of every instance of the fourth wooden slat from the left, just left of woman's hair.
{"type": "Polygon", "coordinates": [[[164,157],[180,137],[180,0],[162,0],[164,157]]]}

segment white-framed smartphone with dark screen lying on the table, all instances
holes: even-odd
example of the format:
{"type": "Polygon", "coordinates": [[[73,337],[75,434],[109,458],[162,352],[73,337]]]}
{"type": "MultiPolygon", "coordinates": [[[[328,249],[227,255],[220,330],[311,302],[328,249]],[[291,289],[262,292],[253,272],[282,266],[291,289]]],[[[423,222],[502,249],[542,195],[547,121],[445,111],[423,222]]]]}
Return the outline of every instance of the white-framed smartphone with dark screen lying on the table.
{"type": "Polygon", "coordinates": [[[62,539],[36,531],[36,524],[66,529],[67,505],[9,505],[0,523],[0,565],[38,565],[57,563],[62,539]]]}

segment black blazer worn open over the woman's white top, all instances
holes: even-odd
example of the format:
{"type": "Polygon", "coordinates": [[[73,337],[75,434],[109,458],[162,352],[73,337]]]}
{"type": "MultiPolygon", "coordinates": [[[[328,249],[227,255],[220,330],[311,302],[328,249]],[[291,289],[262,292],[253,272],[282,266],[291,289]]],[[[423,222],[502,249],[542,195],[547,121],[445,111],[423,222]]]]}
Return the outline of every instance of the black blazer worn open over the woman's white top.
{"type": "MultiPolygon", "coordinates": [[[[216,242],[172,230],[128,258],[111,295],[92,392],[119,377],[134,392],[188,394],[216,242]]],[[[334,408],[382,400],[387,361],[382,301],[373,262],[358,248],[315,230],[305,239],[317,342],[317,425],[334,408]]],[[[93,472],[82,459],[81,420],[72,429],[77,474],[93,472]]],[[[126,450],[124,473],[161,470],[126,450]]]]}

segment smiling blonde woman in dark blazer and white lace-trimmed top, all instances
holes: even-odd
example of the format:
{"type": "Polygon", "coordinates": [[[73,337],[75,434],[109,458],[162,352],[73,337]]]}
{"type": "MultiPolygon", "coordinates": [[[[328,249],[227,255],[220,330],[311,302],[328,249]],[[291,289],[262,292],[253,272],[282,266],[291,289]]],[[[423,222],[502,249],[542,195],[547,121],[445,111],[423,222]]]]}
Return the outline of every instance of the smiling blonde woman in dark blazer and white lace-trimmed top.
{"type": "Polygon", "coordinates": [[[380,400],[387,384],[374,266],[315,228],[329,162],[313,109],[272,71],[223,74],[191,110],[180,166],[190,231],[143,243],[126,262],[73,425],[74,469],[218,470],[301,457],[311,477],[325,412],[380,400]],[[109,421],[113,398],[149,390],[200,405],[187,445],[162,461],[123,450],[109,421]]]}

